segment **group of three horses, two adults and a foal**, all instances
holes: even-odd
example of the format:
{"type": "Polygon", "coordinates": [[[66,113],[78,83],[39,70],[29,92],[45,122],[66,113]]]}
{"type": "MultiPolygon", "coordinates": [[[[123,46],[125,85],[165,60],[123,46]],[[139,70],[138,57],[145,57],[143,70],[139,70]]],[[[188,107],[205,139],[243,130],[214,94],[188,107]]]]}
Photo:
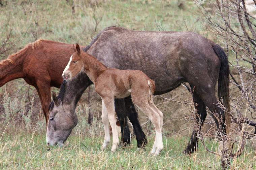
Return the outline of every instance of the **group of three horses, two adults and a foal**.
{"type": "MultiPolygon", "coordinates": [[[[0,63],[0,87],[16,78],[24,78],[38,92],[46,120],[47,145],[64,144],[77,124],[77,102],[92,83],[102,99],[102,149],[110,142],[109,123],[113,130],[111,151],[118,147],[115,111],[122,127],[121,143],[130,144],[128,117],[137,147],[147,144],[135,104],[155,127],[151,154],[159,154],[163,149],[163,114],[153,103],[152,95],[167,93],[183,82],[188,82],[192,89],[199,128],[208,107],[218,132],[229,133],[227,56],[219,45],[193,32],[137,31],[111,26],[87,46],[37,40],[0,63]],[[218,105],[215,96],[217,80],[218,96],[226,110],[218,105]],[[60,88],[58,96],[53,93],[52,102],[51,86],[60,88]]],[[[196,151],[197,143],[195,129],[185,153],[196,151]]]]}

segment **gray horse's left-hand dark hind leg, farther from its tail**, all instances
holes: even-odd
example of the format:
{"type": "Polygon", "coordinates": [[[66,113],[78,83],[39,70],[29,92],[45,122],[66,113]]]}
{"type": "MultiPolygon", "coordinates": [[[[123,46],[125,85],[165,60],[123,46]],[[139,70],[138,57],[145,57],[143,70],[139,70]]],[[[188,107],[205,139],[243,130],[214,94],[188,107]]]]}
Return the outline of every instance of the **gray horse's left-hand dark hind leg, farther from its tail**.
{"type": "MultiPolygon", "coordinates": [[[[193,89],[193,88],[191,88],[193,89]]],[[[202,129],[203,122],[206,117],[206,108],[205,104],[203,103],[202,99],[198,96],[196,92],[193,92],[193,101],[194,101],[194,106],[197,108],[197,114],[196,114],[196,120],[199,126],[199,129],[202,129]]],[[[198,144],[198,138],[197,138],[197,127],[194,128],[192,135],[190,137],[190,141],[188,143],[188,146],[184,150],[186,154],[193,153],[197,149],[197,144],[198,144]]]]}

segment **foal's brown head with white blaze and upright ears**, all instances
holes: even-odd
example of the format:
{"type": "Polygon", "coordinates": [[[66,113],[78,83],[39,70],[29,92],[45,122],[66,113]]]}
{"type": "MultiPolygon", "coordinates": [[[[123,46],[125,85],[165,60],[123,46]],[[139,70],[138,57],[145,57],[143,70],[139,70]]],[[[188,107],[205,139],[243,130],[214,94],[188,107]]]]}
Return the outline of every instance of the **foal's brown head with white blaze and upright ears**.
{"type": "Polygon", "coordinates": [[[76,44],[76,49],[74,48],[74,45],[73,45],[73,49],[75,52],[70,57],[68,65],[66,66],[66,68],[62,73],[62,77],[64,79],[71,79],[84,69],[84,64],[80,57],[81,51],[80,51],[79,45],[76,44]]]}

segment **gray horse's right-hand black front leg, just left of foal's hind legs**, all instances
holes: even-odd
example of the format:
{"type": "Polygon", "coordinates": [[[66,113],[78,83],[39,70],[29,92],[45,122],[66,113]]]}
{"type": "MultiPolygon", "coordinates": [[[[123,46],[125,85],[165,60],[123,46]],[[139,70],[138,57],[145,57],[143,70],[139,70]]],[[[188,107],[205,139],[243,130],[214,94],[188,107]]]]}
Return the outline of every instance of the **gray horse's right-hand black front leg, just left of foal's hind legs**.
{"type": "Polygon", "coordinates": [[[138,113],[134,107],[131,96],[124,98],[124,101],[125,101],[125,108],[127,111],[127,115],[129,117],[130,122],[132,123],[134,133],[136,135],[137,147],[143,148],[148,143],[148,140],[139,124],[138,113]]]}

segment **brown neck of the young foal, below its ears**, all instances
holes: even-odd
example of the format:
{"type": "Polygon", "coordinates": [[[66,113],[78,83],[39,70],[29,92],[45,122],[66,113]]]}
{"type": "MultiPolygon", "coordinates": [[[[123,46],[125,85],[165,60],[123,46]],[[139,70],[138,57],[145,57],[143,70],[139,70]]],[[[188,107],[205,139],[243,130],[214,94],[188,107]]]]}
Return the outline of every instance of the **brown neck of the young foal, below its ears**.
{"type": "Polygon", "coordinates": [[[103,73],[107,67],[90,54],[82,52],[81,56],[84,63],[84,71],[94,83],[98,76],[103,73]]]}

